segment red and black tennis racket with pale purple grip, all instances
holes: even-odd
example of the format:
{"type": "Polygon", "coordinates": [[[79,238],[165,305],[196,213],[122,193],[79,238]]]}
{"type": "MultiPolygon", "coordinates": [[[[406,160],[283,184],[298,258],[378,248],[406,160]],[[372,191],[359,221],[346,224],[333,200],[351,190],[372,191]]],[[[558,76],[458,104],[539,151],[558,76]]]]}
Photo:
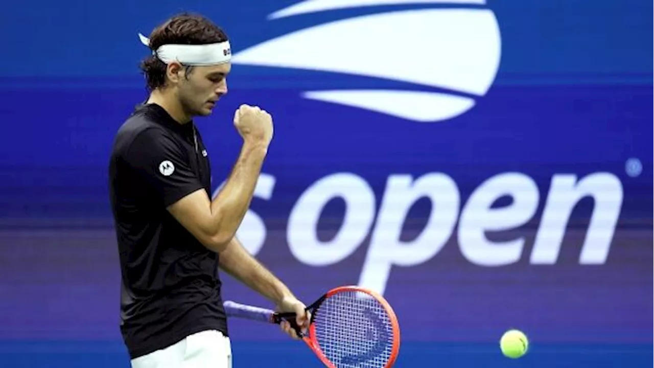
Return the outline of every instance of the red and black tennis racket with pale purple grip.
{"type": "Polygon", "coordinates": [[[308,336],[302,335],[295,313],[226,301],[228,316],[267,323],[290,322],[301,339],[329,368],[389,368],[400,350],[400,325],[390,304],[378,293],[358,286],[336,287],[307,310],[308,336]]]}

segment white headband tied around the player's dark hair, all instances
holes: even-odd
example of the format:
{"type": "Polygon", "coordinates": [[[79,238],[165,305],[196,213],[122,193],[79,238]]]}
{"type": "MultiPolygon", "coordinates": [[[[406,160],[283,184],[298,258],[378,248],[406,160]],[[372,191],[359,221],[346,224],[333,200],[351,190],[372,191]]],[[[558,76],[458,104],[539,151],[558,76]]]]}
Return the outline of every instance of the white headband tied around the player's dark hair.
{"type": "MultiPolygon", "coordinates": [[[[150,47],[150,39],[139,33],[143,45],[150,47]]],[[[218,65],[230,62],[232,48],[230,41],[208,45],[163,45],[152,51],[159,60],[168,64],[179,62],[184,65],[218,65]]]]}

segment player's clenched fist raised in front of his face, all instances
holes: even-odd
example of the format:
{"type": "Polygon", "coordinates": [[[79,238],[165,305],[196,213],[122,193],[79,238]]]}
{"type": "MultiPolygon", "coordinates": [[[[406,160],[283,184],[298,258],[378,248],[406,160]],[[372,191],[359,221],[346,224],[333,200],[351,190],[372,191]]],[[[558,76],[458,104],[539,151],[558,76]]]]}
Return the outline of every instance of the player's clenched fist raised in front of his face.
{"type": "Polygon", "coordinates": [[[241,105],[234,113],[234,126],[247,143],[267,146],[273,139],[273,118],[258,106],[241,105]]]}

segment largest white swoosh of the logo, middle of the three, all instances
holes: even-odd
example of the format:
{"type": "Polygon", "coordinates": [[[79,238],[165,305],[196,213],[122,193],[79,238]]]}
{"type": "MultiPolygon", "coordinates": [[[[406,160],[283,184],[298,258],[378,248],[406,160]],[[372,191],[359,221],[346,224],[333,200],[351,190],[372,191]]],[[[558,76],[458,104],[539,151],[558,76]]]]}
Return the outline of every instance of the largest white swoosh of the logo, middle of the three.
{"type": "Polygon", "coordinates": [[[497,23],[485,9],[373,14],[271,39],[235,54],[232,62],[365,75],[482,95],[500,62],[499,41],[480,37],[488,29],[496,30],[497,23]],[[397,31],[389,24],[396,24],[397,31]]]}

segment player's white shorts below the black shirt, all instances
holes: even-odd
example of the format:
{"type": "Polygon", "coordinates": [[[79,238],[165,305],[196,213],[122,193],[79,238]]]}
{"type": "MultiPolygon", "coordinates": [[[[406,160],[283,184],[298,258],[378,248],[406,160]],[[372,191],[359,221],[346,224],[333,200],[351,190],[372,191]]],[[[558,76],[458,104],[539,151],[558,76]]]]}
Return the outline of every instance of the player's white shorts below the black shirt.
{"type": "Polygon", "coordinates": [[[177,344],[132,359],[131,367],[232,368],[232,344],[220,331],[202,331],[177,344]]]}

